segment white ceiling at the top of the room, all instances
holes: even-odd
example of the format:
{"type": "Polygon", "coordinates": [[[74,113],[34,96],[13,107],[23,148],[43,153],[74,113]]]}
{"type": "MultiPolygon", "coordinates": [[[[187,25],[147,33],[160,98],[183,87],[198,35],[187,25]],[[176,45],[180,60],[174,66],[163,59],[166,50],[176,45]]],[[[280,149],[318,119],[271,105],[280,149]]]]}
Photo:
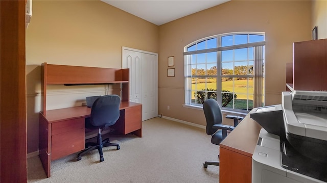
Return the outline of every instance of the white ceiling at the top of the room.
{"type": "Polygon", "coordinates": [[[220,5],[230,0],[101,0],[156,25],[165,24],[178,18],[220,5]]]}

